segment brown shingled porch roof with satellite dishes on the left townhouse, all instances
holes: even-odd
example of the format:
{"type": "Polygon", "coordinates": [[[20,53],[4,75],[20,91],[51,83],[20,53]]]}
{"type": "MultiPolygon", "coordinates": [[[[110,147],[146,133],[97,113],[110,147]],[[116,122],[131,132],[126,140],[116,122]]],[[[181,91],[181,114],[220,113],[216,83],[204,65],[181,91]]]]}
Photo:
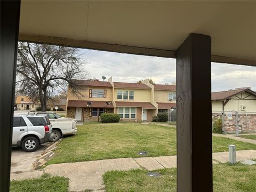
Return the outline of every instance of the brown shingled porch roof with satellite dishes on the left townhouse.
{"type": "Polygon", "coordinates": [[[67,107],[114,108],[111,101],[79,101],[68,100],[67,107]]]}

